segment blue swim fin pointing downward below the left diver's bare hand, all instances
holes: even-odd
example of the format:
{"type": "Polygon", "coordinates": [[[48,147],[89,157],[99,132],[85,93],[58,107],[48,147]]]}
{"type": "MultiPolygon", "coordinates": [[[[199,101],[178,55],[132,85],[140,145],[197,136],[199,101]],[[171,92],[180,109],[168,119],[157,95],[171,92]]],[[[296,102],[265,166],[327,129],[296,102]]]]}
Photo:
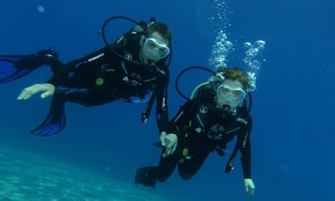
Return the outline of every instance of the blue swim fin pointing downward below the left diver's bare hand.
{"type": "Polygon", "coordinates": [[[61,132],[66,126],[65,96],[57,93],[52,98],[48,116],[43,123],[29,133],[35,135],[49,136],[61,132]]]}

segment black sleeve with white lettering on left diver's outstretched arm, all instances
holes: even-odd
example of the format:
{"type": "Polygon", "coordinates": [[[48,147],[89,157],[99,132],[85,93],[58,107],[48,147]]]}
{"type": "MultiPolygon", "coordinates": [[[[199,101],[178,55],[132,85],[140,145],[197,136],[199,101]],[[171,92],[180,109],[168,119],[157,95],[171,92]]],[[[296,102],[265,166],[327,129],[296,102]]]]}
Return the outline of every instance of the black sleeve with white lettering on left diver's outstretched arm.
{"type": "Polygon", "coordinates": [[[98,57],[97,59],[105,59],[106,63],[111,63],[113,62],[113,60],[120,60],[120,59],[115,59],[117,58],[117,56],[110,50],[109,47],[105,47],[101,50],[94,51],[83,58],[75,59],[67,63],[65,66],[60,67],[56,71],[56,73],[54,73],[54,75],[46,82],[51,83],[55,87],[58,87],[59,85],[63,85],[66,82],[67,75],[69,72],[71,71],[74,72],[75,67],[82,65],[83,63],[90,63],[90,59],[98,55],[101,57],[98,57]]]}

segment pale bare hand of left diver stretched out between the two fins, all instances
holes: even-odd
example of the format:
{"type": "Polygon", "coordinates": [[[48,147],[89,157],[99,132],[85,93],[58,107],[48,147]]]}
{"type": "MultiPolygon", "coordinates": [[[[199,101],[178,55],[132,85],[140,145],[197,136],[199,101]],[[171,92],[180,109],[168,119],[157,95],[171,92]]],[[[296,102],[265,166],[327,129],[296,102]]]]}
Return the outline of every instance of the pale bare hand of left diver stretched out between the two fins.
{"type": "Polygon", "coordinates": [[[30,87],[27,87],[21,91],[19,94],[19,100],[27,100],[30,97],[33,97],[36,93],[42,93],[41,97],[50,97],[55,93],[55,86],[51,83],[43,83],[43,84],[34,84],[30,87]]]}

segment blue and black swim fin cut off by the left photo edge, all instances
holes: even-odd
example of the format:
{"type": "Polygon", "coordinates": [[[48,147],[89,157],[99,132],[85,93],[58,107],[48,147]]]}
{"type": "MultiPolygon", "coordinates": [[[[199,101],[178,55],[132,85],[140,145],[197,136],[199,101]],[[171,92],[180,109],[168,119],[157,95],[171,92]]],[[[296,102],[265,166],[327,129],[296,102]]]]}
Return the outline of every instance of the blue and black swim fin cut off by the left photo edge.
{"type": "Polygon", "coordinates": [[[41,50],[30,55],[0,55],[0,83],[14,81],[43,65],[60,63],[53,50],[41,50]]]}

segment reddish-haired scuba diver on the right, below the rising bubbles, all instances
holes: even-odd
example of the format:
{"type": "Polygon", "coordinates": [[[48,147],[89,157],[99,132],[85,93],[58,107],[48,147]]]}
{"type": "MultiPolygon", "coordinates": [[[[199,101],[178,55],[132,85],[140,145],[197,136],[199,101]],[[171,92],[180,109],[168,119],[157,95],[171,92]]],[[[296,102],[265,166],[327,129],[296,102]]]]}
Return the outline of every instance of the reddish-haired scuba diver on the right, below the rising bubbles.
{"type": "Polygon", "coordinates": [[[169,121],[167,130],[160,135],[162,152],[159,165],[138,168],[135,183],[154,188],[157,181],[164,182],[173,174],[175,166],[178,166],[183,180],[189,180],[199,171],[210,152],[217,151],[219,156],[223,156],[227,143],[237,136],[225,172],[232,171],[234,158],[239,151],[245,195],[253,196],[252,118],[245,105],[249,87],[248,77],[240,68],[219,68],[209,81],[196,88],[196,97],[183,104],[169,121]]]}

